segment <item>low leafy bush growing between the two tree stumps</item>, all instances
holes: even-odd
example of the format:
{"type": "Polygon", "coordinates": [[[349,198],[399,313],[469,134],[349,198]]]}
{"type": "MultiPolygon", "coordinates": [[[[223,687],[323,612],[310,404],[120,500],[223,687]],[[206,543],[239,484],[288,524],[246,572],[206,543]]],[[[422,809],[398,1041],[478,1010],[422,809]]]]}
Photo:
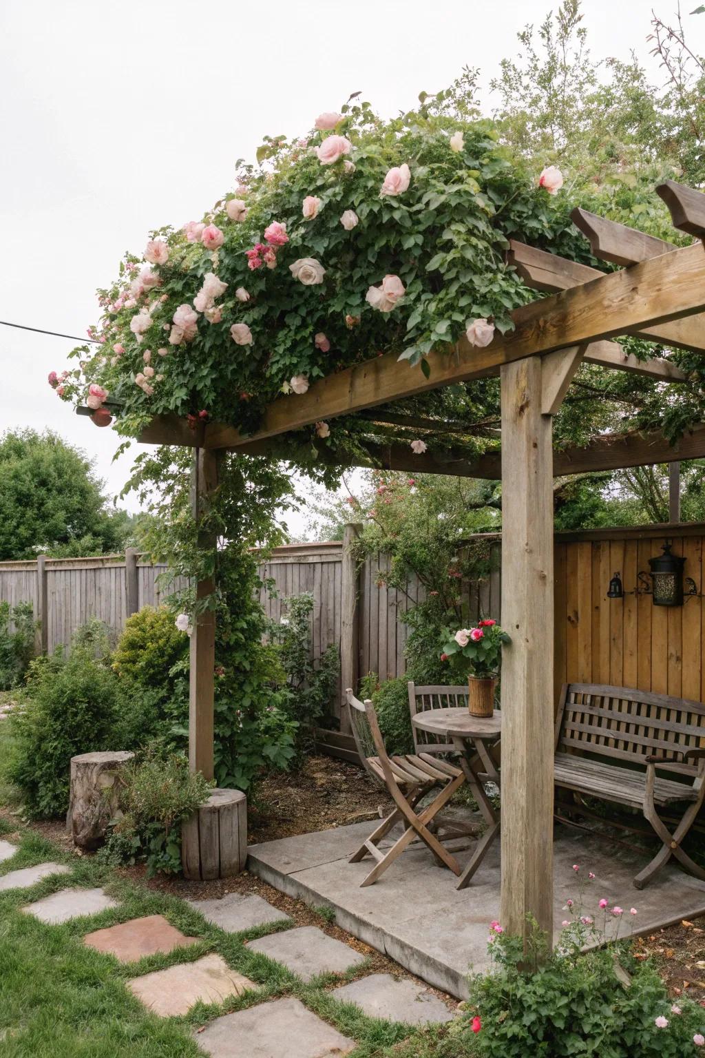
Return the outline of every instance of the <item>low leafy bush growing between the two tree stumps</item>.
{"type": "Polygon", "coordinates": [[[113,823],[101,859],[145,860],[147,874],[181,871],[181,824],[208,800],[212,783],[192,774],[185,756],[147,756],[120,776],[122,818],[113,823]]]}

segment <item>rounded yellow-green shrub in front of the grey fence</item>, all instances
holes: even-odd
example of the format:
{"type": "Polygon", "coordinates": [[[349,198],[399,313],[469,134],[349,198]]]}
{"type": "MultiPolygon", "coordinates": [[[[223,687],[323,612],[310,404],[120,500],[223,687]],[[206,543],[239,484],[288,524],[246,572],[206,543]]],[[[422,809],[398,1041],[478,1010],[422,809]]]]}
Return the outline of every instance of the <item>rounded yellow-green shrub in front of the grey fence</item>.
{"type": "Polygon", "coordinates": [[[166,606],[143,606],[129,617],[113,655],[117,675],[168,694],[171,670],[188,657],[188,638],[173,622],[166,606]]]}

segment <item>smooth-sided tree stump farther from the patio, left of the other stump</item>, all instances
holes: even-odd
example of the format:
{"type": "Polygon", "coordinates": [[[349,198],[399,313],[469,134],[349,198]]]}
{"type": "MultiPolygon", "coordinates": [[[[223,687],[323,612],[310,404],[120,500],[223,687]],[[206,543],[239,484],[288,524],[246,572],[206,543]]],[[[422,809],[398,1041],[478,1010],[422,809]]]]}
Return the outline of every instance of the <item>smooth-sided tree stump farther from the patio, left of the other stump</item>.
{"type": "Polygon", "coordinates": [[[97,849],[118,811],[115,780],[134,753],[80,753],[71,758],[71,795],[67,831],[81,849],[97,849]]]}

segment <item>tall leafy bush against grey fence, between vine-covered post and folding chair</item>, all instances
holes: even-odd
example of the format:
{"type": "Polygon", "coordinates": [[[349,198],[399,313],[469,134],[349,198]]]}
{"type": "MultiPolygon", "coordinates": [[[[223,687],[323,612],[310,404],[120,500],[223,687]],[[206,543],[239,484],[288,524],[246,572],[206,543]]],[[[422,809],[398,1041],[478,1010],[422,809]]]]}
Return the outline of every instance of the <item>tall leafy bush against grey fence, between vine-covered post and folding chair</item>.
{"type": "Polygon", "coordinates": [[[290,691],[287,710],[299,723],[300,734],[312,729],[330,707],[340,669],[338,647],[331,643],[316,667],[311,657],[311,591],[286,599],[286,616],[275,625],[281,665],[290,691]]]}

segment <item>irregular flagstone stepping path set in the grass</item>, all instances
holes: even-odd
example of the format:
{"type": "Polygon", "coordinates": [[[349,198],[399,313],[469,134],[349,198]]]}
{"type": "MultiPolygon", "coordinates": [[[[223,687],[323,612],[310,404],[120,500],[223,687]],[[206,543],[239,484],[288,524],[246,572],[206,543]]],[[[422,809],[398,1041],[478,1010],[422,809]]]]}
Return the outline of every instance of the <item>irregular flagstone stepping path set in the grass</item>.
{"type": "MultiPolygon", "coordinates": [[[[16,845],[0,841],[0,863],[16,851],[16,845]]],[[[0,875],[0,891],[30,888],[52,875],[70,873],[70,868],[54,862],[8,871],[0,875]]],[[[289,915],[256,895],[228,893],[221,899],[186,902],[226,933],[292,923],[289,915]]],[[[21,910],[51,926],[118,906],[103,889],[73,886],[26,904],[21,910]]],[[[156,953],[168,954],[200,942],[199,937],[182,933],[163,915],[146,915],[93,930],[82,940],[123,963],[138,962],[156,953]]],[[[284,929],[244,944],[247,950],[280,963],[305,983],[318,974],[342,973],[365,963],[354,948],[314,926],[284,929]]],[[[133,977],[126,984],[148,1009],[163,1018],[183,1016],[199,1002],[220,1004],[246,992],[257,992],[259,988],[215,952],[133,977]]],[[[368,974],[333,988],[329,996],[357,1005],[369,1017],[410,1026],[450,1021],[453,1017],[443,1001],[423,985],[408,979],[395,980],[389,973],[368,974]]],[[[215,1018],[194,1034],[194,1039],[200,1050],[212,1058],[341,1058],[357,1046],[355,1040],[344,1036],[294,997],[255,1003],[215,1018]]]]}

